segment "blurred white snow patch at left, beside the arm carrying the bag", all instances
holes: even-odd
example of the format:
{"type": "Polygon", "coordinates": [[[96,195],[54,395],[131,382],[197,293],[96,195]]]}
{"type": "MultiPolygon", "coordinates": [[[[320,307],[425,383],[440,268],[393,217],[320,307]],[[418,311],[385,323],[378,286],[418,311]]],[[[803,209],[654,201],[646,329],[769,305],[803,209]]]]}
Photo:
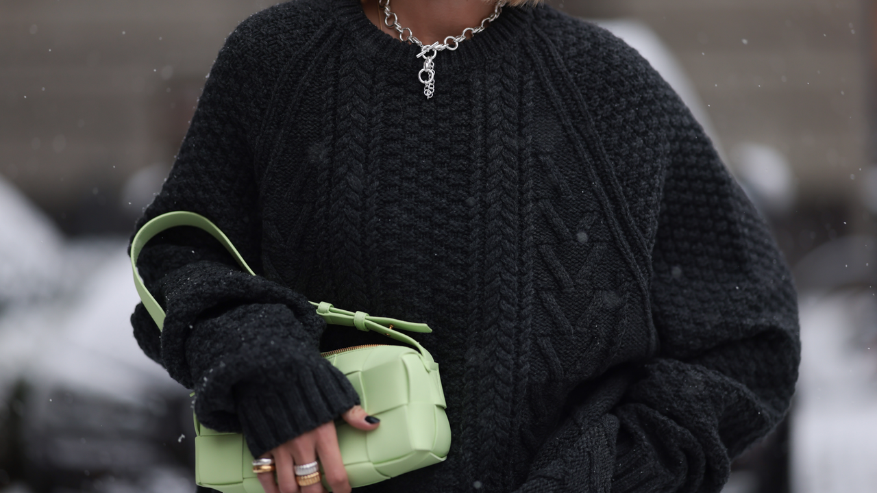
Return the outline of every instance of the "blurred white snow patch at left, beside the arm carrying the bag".
{"type": "Polygon", "coordinates": [[[0,177],[0,398],[26,379],[117,399],[180,386],[140,351],[125,239],[64,239],[0,177]]]}

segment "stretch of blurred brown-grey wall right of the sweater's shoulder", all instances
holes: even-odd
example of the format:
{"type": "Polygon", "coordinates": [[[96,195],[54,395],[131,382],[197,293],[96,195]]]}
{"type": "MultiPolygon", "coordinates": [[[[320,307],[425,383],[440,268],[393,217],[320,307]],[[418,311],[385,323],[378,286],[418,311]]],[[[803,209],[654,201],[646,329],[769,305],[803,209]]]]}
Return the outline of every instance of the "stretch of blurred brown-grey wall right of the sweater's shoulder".
{"type": "MultiPolygon", "coordinates": [[[[554,0],[574,15],[638,18],[692,78],[731,150],[774,146],[805,200],[842,200],[865,168],[868,3],[857,0],[554,0]],[[852,180],[854,181],[854,180],[852,180]]],[[[733,163],[731,163],[733,164],[733,163]]]]}

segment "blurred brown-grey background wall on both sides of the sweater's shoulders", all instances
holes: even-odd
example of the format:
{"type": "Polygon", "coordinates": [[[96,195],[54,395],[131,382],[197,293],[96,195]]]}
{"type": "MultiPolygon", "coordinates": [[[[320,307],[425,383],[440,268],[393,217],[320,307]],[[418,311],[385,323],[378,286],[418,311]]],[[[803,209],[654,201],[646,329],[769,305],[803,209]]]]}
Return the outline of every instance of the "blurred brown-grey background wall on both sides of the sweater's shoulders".
{"type": "MultiPolygon", "coordinates": [[[[69,232],[124,230],[144,200],[125,182],[167,170],[223,39],[273,3],[4,0],[0,173],[69,232]],[[127,202],[126,215],[95,224],[96,211],[127,202]]],[[[799,209],[855,209],[868,164],[866,0],[549,3],[649,25],[709,105],[729,155],[772,146],[793,168],[799,209]]]]}

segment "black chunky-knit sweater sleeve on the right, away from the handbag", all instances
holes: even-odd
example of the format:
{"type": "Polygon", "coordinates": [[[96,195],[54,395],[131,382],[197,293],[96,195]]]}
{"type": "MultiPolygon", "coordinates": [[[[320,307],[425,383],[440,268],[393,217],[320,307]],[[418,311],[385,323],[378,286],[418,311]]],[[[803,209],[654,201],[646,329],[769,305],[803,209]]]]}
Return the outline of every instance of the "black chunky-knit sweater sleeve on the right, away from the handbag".
{"type": "MultiPolygon", "coordinates": [[[[610,75],[579,68],[581,87],[629,84],[638,114],[651,112],[645,121],[667,136],[660,213],[645,228],[660,348],[577,397],[584,404],[540,448],[517,493],[718,492],[731,460],[788,410],[800,361],[795,289],[765,221],[684,104],[633,50],[597,36],[588,42],[603,52],[590,60],[611,63],[591,65],[610,75]]],[[[617,115],[618,92],[592,90],[612,95],[592,103],[617,115]]]]}

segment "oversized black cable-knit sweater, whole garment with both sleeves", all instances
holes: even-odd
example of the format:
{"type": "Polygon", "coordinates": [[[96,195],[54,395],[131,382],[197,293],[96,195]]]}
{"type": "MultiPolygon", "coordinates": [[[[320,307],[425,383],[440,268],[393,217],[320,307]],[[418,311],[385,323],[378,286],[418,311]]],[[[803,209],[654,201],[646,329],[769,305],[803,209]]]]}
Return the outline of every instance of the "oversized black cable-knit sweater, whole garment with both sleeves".
{"type": "Polygon", "coordinates": [[[362,491],[721,489],[800,351],[788,270],[702,128],[623,41],[547,7],[439,53],[431,99],[417,53],[357,0],[232,32],[139,225],[201,213],[258,276],[202,232],[153,239],[168,316],[137,307],[140,346],[259,455],[358,403],[307,299],[425,322],[451,451],[362,491]]]}

